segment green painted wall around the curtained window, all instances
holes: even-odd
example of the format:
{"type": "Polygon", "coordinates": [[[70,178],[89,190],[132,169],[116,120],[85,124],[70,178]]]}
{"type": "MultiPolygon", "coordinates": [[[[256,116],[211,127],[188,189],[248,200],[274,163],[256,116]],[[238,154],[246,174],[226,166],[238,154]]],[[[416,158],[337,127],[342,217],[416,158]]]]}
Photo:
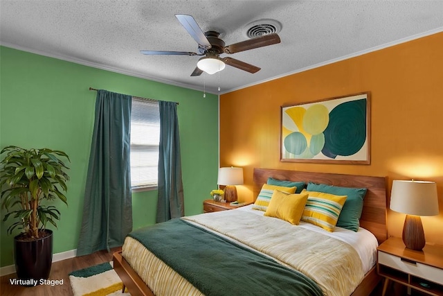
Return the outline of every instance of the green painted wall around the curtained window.
{"type": "MultiPolygon", "coordinates": [[[[68,207],[55,202],[61,219],[54,229],[54,253],[77,247],[96,92],[179,102],[179,128],[186,215],[203,211],[202,201],[217,188],[218,99],[183,87],[134,78],[42,55],[0,47],[0,148],[63,150],[71,158],[68,207]]],[[[1,155],[3,158],[3,155],[1,155]]],[[[157,191],[132,195],[134,229],[155,223],[157,191]]],[[[1,209],[1,219],[5,214],[1,209]]],[[[10,220],[12,221],[12,220],[10,220]]],[[[1,267],[12,265],[13,236],[1,221],[1,267]]]]}

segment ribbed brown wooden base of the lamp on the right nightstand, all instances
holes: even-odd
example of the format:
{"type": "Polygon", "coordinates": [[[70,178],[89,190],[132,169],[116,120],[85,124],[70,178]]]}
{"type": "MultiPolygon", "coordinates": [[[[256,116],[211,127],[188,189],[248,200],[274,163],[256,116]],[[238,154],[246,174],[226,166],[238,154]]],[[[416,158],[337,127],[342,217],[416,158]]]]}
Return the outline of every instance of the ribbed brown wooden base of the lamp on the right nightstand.
{"type": "Polygon", "coordinates": [[[408,249],[421,251],[426,244],[422,219],[419,216],[406,215],[403,226],[403,242],[408,249]]]}

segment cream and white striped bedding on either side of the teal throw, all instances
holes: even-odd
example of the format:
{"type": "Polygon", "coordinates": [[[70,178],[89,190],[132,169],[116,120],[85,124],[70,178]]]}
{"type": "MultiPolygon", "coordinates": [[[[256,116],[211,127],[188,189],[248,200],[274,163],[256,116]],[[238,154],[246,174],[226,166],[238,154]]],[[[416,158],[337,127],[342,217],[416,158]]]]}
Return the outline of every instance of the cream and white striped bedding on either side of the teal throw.
{"type": "MultiPolygon", "coordinates": [[[[289,225],[276,218],[264,217],[263,214],[262,211],[246,206],[184,219],[303,272],[318,282],[325,295],[350,295],[375,263],[377,239],[363,228],[352,232],[337,227],[336,231],[329,233],[309,223],[289,225]],[[305,237],[305,241],[295,247],[297,252],[293,252],[296,249],[290,241],[293,237],[305,237]],[[307,247],[312,242],[315,247],[307,247]],[[322,243],[327,247],[316,248],[322,243]],[[282,247],[276,247],[280,245],[282,247]],[[338,250],[343,253],[335,254],[338,250]],[[309,253],[315,254],[309,258],[309,253]],[[338,263],[334,263],[334,260],[338,263]],[[322,265],[324,262],[328,263],[322,265]],[[339,269],[329,270],[329,265],[337,265],[339,269]]],[[[134,238],[126,238],[123,257],[155,295],[201,295],[197,288],[134,238]]]]}

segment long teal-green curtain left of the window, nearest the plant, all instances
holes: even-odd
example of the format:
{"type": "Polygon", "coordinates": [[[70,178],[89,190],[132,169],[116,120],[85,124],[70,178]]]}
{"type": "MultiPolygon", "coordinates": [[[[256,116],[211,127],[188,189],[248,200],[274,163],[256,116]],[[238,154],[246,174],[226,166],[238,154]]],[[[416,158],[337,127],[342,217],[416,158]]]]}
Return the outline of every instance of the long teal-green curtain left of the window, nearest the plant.
{"type": "Polygon", "coordinates": [[[132,97],[98,90],[77,256],[123,245],[132,231],[132,97]]]}

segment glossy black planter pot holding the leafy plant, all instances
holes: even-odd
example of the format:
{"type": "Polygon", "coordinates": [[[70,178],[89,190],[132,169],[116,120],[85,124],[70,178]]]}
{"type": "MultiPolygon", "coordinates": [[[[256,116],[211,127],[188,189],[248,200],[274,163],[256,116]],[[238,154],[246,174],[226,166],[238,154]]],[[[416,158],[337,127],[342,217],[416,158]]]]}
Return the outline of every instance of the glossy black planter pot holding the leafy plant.
{"type": "Polygon", "coordinates": [[[14,261],[17,278],[19,279],[48,279],[53,262],[53,232],[35,241],[20,241],[14,238],[14,261]]]}

